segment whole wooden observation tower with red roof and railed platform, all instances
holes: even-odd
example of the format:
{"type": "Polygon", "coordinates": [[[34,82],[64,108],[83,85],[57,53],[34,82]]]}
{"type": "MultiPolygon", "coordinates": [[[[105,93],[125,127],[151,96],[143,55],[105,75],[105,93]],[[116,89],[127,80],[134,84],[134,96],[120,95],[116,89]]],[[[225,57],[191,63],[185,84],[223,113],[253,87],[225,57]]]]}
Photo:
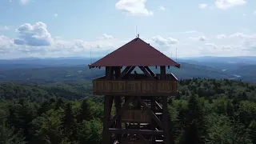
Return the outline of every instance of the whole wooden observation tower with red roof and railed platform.
{"type": "Polygon", "coordinates": [[[106,75],[93,80],[93,94],[105,95],[103,144],[171,143],[167,97],[177,94],[178,79],[166,67],[179,68],[177,62],[134,38],[89,66],[106,67],[106,75]],[[154,74],[150,67],[158,66],[154,74]],[[143,74],[131,73],[138,68],[143,74]]]}

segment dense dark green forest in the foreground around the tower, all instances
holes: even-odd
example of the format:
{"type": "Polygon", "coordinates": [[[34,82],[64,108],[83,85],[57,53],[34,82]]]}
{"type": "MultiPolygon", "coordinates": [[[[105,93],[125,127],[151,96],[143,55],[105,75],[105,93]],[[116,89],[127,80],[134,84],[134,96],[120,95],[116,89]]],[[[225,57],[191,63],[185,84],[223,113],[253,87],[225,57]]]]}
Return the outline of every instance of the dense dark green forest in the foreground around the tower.
{"type": "MultiPolygon", "coordinates": [[[[168,100],[173,143],[256,143],[254,84],[191,78],[178,91],[168,100]]],[[[0,99],[0,144],[102,143],[103,98],[91,82],[2,83],[0,99]]]]}

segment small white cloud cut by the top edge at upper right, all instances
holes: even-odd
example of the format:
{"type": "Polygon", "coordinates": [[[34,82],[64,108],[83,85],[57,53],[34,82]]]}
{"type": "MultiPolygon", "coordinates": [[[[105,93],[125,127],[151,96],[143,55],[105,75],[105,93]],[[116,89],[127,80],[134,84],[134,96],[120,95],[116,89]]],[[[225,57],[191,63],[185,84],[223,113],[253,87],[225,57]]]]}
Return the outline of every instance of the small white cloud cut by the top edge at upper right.
{"type": "Polygon", "coordinates": [[[226,10],[233,6],[245,5],[246,0],[215,0],[214,3],[219,9],[226,10]]]}

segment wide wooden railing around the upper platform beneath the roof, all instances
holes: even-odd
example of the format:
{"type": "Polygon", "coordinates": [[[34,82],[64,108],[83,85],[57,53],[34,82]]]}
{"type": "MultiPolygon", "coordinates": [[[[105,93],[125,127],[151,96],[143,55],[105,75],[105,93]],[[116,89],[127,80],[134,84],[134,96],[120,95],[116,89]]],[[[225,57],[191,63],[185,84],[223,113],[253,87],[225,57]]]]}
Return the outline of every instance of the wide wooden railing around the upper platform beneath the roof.
{"type": "Polygon", "coordinates": [[[174,96],[176,80],[93,80],[94,95],[174,96]]]}

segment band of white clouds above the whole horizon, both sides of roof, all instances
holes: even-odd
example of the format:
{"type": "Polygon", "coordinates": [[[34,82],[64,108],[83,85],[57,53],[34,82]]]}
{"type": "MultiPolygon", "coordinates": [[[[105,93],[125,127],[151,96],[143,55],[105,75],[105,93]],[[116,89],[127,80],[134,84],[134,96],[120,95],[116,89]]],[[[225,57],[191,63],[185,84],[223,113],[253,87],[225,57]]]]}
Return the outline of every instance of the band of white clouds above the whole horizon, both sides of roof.
{"type": "MultiPolygon", "coordinates": [[[[120,39],[110,34],[102,34],[93,41],[83,39],[65,41],[52,36],[43,22],[34,25],[23,24],[18,27],[17,32],[18,38],[0,35],[1,58],[90,57],[90,50],[92,57],[102,57],[133,39],[120,39]]],[[[256,34],[200,34],[201,36],[191,38],[189,35],[194,34],[177,34],[173,37],[155,35],[152,38],[142,39],[168,56],[174,55],[176,48],[178,57],[256,55],[256,34]]]]}

